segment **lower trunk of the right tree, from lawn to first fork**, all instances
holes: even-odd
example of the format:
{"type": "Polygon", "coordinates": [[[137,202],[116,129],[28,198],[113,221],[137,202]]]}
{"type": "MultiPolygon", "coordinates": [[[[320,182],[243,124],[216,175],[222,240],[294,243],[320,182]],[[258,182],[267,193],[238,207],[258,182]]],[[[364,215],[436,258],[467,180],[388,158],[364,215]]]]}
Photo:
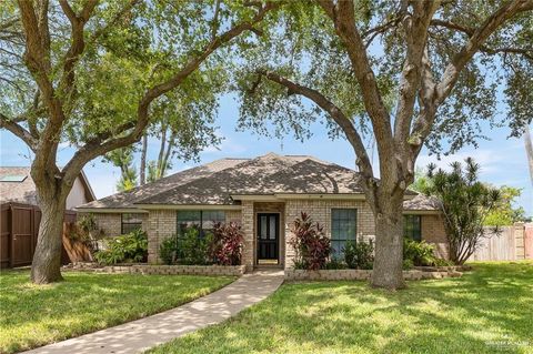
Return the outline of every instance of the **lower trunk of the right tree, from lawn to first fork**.
{"type": "Polygon", "coordinates": [[[372,286],[396,290],[405,287],[403,280],[403,195],[379,201],[374,209],[375,259],[372,286]],[[396,200],[394,202],[393,200],[396,200]]]}

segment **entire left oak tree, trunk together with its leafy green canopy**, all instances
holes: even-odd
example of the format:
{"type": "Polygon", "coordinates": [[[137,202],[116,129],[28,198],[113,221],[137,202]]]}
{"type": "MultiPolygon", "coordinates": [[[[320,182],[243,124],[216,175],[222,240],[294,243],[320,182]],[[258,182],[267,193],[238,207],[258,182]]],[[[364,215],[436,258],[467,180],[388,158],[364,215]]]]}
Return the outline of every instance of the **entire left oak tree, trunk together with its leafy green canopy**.
{"type": "Polygon", "coordinates": [[[61,280],[63,211],[81,169],[139,141],[163,100],[203,104],[229,45],[261,34],[276,4],[20,0],[0,8],[0,128],[34,154],[42,219],[31,279],[50,283],[61,280]],[[62,168],[61,142],[76,149],[62,168]]]}

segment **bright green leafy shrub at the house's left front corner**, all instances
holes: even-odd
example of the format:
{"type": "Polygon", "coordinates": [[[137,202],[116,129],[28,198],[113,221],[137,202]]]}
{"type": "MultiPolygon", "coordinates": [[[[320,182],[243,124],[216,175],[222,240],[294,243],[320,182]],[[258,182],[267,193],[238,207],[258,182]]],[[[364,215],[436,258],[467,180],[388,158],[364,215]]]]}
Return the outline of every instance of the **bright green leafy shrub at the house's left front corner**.
{"type": "Polygon", "coordinates": [[[123,262],[145,262],[148,257],[148,236],[142,230],[125,235],[107,239],[107,249],[97,251],[98,263],[115,264],[123,262]]]}

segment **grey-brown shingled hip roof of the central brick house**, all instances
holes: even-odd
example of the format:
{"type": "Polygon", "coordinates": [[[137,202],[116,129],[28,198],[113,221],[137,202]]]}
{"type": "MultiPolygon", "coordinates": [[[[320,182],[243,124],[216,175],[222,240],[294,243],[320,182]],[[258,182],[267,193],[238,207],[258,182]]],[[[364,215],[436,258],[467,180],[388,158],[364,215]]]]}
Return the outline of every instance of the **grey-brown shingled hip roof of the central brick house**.
{"type": "Polygon", "coordinates": [[[235,203],[231,195],[281,193],[361,194],[363,190],[360,174],[353,170],[312,156],[269,153],[255,159],[217,160],[79,209],[124,209],[135,204],[231,205],[235,203]]]}

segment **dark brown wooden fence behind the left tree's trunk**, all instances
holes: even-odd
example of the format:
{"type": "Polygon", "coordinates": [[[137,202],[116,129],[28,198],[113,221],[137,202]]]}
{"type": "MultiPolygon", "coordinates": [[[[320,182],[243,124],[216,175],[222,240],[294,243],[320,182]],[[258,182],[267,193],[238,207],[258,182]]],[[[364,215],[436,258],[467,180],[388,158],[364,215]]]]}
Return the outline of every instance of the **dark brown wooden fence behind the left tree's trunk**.
{"type": "MultiPolygon", "coordinates": [[[[41,211],[36,205],[4,203],[0,206],[0,267],[30,265],[37,246],[41,211]]],[[[64,211],[64,234],[76,222],[76,212],[64,211]]],[[[63,241],[64,244],[64,241],[63,241]]],[[[70,262],[63,246],[61,262],[70,262]]]]}

